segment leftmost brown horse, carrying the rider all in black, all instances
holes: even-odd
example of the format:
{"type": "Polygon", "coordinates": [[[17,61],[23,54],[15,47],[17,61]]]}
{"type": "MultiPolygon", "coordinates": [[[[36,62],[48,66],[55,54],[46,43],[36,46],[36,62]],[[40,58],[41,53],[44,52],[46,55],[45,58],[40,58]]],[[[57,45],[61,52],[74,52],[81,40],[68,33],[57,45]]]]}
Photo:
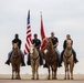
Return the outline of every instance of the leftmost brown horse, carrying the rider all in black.
{"type": "Polygon", "coordinates": [[[11,62],[11,66],[12,66],[12,80],[13,79],[21,80],[21,77],[20,77],[21,55],[20,55],[20,50],[19,50],[18,43],[13,43],[10,62],[11,62]]]}

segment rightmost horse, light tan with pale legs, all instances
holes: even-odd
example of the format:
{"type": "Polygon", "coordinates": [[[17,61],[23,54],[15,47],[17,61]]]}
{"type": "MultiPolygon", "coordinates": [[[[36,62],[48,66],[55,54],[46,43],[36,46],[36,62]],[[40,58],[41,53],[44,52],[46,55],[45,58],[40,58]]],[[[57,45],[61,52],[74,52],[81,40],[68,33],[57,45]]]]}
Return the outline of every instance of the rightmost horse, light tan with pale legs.
{"type": "Polygon", "coordinates": [[[65,66],[65,77],[64,80],[73,80],[73,69],[74,69],[74,58],[72,53],[72,40],[66,40],[66,49],[63,54],[63,62],[65,66]]]}

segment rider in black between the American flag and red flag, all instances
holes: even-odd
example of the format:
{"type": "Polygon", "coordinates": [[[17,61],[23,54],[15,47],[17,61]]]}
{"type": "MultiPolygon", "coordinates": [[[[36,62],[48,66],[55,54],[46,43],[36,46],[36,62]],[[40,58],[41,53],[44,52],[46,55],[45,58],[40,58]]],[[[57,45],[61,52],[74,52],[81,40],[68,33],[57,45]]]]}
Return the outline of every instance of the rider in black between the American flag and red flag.
{"type": "MultiPolygon", "coordinates": [[[[40,52],[40,46],[41,46],[41,41],[40,41],[40,39],[38,39],[38,34],[36,33],[34,33],[34,39],[32,39],[32,43],[35,45],[35,48],[38,49],[38,51],[39,51],[39,55],[40,55],[40,65],[42,65],[43,64],[43,60],[42,60],[42,55],[41,55],[41,52],[40,52]]],[[[29,58],[28,58],[28,65],[30,65],[31,63],[30,63],[30,53],[29,53],[29,55],[28,55],[29,58]]]]}

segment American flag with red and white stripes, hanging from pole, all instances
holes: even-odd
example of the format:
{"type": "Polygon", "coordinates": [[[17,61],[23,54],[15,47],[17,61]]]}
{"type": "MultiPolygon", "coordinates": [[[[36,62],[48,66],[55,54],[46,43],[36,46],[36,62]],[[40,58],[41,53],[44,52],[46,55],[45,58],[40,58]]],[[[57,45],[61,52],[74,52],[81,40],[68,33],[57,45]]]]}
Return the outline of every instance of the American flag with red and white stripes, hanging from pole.
{"type": "Polygon", "coordinates": [[[24,54],[29,53],[29,45],[31,42],[31,25],[30,25],[30,10],[28,12],[28,19],[27,19],[27,40],[24,45],[24,54]]]}

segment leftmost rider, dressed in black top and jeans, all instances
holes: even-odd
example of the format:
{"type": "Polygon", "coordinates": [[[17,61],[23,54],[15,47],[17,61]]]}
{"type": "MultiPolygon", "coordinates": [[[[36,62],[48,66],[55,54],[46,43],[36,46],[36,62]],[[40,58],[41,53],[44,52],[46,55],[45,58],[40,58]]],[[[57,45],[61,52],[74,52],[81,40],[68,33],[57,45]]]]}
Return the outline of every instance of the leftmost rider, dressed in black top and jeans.
{"type": "MultiPolygon", "coordinates": [[[[25,66],[25,63],[24,63],[24,54],[23,52],[21,51],[21,43],[22,41],[19,39],[19,34],[15,34],[14,35],[14,39],[12,40],[12,44],[13,43],[17,43],[18,42],[18,45],[19,45],[19,49],[20,49],[20,53],[21,53],[21,65],[22,66],[25,66]]],[[[8,60],[6,62],[6,64],[10,65],[10,58],[11,58],[11,54],[12,54],[12,51],[9,52],[8,54],[8,60]]]]}

